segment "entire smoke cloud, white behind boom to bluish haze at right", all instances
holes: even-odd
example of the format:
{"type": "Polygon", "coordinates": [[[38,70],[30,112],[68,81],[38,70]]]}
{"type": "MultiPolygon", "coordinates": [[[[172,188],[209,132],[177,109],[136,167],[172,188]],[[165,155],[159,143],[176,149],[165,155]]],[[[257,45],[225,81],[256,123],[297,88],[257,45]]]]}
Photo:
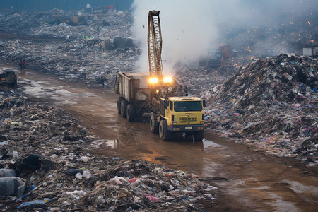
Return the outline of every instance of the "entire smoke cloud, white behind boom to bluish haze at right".
{"type": "MultiPolygon", "coordinates": [[[[161,30],[163,33],[163,69],[171,73],[175,64],[191,64],[206,56],[208,49],[223,42],[232,43],[240,33],[263,29],[268,35],[258,43],[247,40],[235,47],[249,45],[254,50],[264,45],[273,46],[272,37],[281,27],[306,24],[298,21],[303,13],[317,13],[316,1],[142,1],[135,0],[134,25],[131,30],[141,47],[141,56],[136,69],[148,71],[147,23],[148,11],[160,11],[161,30]]],[[[312,23],[316,24],[314,20],[312,23]]],[[[259,32],[263,33],[262,31],[259,32]]],[[[299,37],[295,37],[299,39],[299,37]]],[[[276,44],[275,44],[276,45],[276,44]]],[[[277,47],[276,49],[281,49],[277,47]]],[[[281,49],[288,53],[288,49],[281,49]]],[[[277,52],[280,53],[280,52],[277,52]]]]}

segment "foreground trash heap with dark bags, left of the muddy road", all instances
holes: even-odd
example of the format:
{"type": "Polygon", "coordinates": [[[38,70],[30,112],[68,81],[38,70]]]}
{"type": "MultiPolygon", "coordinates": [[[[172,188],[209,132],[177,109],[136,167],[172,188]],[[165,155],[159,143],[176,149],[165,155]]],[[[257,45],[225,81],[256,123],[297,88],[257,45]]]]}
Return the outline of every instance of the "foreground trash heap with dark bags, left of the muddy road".
{"type": "MultiPolygon", "coordinates": [[[[95,155],[70,114],[0,91],[0,210],[203,211],[216,187],[147,161],[95,155]]],[[[92,142],[93,141],[93,142],[92,142]]]]}

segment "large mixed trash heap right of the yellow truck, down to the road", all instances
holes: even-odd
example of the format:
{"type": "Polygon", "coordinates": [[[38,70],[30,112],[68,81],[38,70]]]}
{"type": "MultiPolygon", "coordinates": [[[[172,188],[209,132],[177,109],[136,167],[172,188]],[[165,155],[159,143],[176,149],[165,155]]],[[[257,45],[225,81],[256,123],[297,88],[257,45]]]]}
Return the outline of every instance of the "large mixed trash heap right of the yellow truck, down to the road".
{"type": "Polygon", "coordinates": [[[317,59],[280,54],[211,89],[206,124],[266,153],[318,163],[317,59]]]}

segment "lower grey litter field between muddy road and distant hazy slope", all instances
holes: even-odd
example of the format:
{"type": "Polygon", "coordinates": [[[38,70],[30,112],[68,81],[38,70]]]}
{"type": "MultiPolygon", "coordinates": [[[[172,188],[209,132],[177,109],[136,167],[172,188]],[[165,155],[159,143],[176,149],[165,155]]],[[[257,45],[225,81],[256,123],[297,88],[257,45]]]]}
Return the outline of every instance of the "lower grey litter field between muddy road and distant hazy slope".
{"type": "Polygon", "coordinates": [[[68,44],[9,40],[4,42],[0,55],[17,67],[20,59],[26,59],[27,69],[41,69],[73,81],[83,81],[82,74],[86,73],[86,83],[94,85],[103,76],[108,88],[112,88],[119,71],[134,71],[134,62],[138,59],[134,47],[100,52],[97,39],[72,40],[68,44]]]}

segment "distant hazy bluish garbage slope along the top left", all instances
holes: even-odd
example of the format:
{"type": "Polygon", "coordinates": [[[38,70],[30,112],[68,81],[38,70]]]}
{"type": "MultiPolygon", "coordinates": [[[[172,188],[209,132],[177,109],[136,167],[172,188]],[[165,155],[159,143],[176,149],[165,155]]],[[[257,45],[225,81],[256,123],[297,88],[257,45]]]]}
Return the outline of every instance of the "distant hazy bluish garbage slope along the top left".
{"type": "Polygon", "coordinates": [[[55,8],[45,12],[18,11],[0,16],[0,29],[1,33],[38,37],[65,38],[69,35],[81,38],[84,35],[98,37],[100,34],[102,38],[127,35],[130,21],[131,16],[126,12],[101,13],[95,18],[83,11],[75,13],[55,8]],[[72,20],[78,18],[82,18],[83,23],[74,24],[72,20]]]}

